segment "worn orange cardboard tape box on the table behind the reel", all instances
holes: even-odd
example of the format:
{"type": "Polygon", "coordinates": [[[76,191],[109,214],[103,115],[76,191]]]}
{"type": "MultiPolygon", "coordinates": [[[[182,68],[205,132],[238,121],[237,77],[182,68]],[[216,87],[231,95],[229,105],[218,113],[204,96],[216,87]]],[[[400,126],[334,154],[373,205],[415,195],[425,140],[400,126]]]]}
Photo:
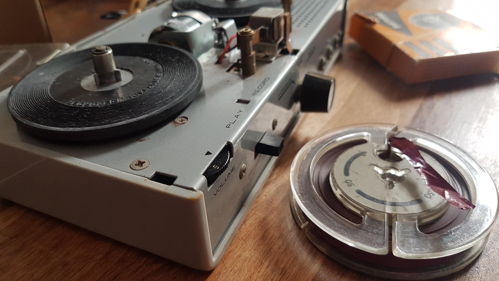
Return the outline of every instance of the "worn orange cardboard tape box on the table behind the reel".
{"type": "Polygon", "coordinates": [[[442,10],[355,13],[350,36],[407,83],[498,69],[495,38],[442,10]]]}

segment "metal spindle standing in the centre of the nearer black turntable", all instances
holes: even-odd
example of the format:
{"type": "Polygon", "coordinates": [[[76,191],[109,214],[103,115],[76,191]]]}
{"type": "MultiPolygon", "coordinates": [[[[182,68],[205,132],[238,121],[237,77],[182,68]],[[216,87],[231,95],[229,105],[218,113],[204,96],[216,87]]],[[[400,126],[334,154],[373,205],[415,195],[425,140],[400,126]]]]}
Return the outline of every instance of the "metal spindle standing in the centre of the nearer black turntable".
{"type": "Polygon", "coordinates": [[[121,70],[116,68],[113,50],[109,46],[97,46],[92,49],[92,61],[95,68],[95,83],[110,85],[123,80],[121,70]]]}

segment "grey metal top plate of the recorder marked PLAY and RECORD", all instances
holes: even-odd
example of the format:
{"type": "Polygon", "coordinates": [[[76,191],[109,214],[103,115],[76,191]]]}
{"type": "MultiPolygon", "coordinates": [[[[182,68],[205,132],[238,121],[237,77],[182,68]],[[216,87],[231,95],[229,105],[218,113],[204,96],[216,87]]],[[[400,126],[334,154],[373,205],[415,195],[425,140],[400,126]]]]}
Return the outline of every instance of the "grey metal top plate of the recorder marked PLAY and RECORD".
{"type": "MultiPolygon", "coordinates": [[[[339,4],[340,2],[335,2],[330,5],[339,4]]],[[[148,36],[135,35],[150,32],[163,23],[162,15],[169,13],[169,8],[168,5],[159,5],[141,16],[136,15],[133,23],[129,20],[124,23],[132,24],[134,28],[143,25],[144,29],[140,32],[129,30],[123,25],[110,27],[105,36],[78,42],[75,47],[81,49],[98,44],[123,42],[127,39],[147,41],[148,36]],[[116,32],[124,31],[131,35],[117,36],[116,32]],[[114,39],[117,37],[119,40],[114,39]]],[[[299,31],[296,33],[300,33],[299,31]]],[[[300,38],[304,36],[296,35],[300,38]]],[[[103,141],[55,142],[18,130],[5,106],[5,98],[10,90],[8,88],[0,94],[0,126],[3,128],[0,141],[29,143],[147,178],[151,178],[155,172],[161,172],[177,176],[174,185],[200,189],[206,185],[203,172],[228,141],[236,143],[242,138],[251,119],[265,102],[270,101],[277,107],[291,107],[294,98],[291,95],[300,79],[298,74],[304,71],[301,66],[309,55],[310,52],[303,49],[298,55],[282,55],[272,63],[258,63],[255,75],[242,78],[238,73],[226,72],[232,65],[231,61],[237,59],[238,50],[229,53],[230,59],[219,65],[215,64],[217,55],[215,49],[212,49],[199,57],[204,72],[204,90],[179,114],[189,118],[186,123],[163,123],[136,134],[103,141]],[[250,102],[242,104],[236,102],[238,99],[250,102]],[[212,154],[205,155],[208,151],[212,154]],[[137,158],[148,159],[149,167],[132,170],[130,163],[137,158]]]]}

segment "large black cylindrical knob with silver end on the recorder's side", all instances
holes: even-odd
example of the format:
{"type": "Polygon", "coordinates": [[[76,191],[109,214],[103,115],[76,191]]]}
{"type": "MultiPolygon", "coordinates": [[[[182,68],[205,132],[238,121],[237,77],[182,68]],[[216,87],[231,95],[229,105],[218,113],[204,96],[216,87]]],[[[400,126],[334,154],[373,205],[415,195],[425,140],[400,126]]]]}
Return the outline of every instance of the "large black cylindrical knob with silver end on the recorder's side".
{"type": "Polygon", "coordinates": [[[333,105],[334,78],[307,72],[301,84],[300,102],[302,112],[329,112],[333,105]]]}

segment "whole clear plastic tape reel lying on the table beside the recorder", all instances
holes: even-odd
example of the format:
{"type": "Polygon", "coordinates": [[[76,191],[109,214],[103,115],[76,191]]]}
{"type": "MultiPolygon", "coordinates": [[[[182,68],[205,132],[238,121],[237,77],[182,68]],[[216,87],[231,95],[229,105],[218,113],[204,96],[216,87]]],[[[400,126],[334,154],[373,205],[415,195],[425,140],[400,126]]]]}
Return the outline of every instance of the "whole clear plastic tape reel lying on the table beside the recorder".
{"type": "Polygon", "coordinates": [[[472,210],[432,192],[400,150],[386,157],[391,125],[340,128],[311,140],[291,166],[291,208],[323,252],[357,270],[424,279],[455,272],[482,251],[497,218],[498,193],[469,154],[435,135],[402,129],[472,210]]]}

